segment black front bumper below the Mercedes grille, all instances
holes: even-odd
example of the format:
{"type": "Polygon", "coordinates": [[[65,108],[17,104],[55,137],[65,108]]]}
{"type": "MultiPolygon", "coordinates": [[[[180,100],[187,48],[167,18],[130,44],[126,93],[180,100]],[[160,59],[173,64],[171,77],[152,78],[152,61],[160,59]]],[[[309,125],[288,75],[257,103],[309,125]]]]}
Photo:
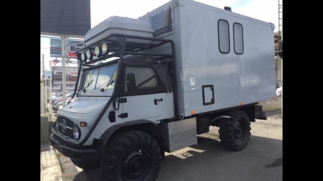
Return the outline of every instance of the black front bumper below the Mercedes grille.
{"type": "Polygon", "coordinates": [[[100,152],[97,149],[88,148],[87,146],[80,146],[74,148],[65,144],[58,136],[53,133],[50,134],[51,145],[61,152],[63,155],[79,161],[93,161],[98,160],[100,152]]]}

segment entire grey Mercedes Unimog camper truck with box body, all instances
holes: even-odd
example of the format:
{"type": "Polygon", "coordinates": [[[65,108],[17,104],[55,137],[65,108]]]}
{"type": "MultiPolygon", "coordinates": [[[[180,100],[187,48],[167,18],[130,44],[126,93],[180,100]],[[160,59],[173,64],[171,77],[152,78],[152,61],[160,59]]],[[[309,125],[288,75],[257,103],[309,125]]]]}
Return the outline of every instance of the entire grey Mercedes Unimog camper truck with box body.
{"type": "Polygon", "coordinates": [[[274,25],[194,1],[139,19],[110,17],[77,50],[76,86],[58,111],[51,144],[104,180],[154,180],[165,151],[220,127],[244,149],[250,122],[275,99],[274,25]]]}

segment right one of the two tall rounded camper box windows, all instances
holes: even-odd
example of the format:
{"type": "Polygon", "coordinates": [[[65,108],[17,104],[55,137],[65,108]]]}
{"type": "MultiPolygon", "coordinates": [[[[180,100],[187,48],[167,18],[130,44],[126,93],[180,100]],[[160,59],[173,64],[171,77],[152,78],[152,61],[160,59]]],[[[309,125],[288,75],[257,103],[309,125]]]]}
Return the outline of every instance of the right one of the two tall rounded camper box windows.
{"type": "Polygon", "coordinates": [[[233,24],[233,44],[236,54],[243,53],[243,28],[240,23],[233,24]]]}

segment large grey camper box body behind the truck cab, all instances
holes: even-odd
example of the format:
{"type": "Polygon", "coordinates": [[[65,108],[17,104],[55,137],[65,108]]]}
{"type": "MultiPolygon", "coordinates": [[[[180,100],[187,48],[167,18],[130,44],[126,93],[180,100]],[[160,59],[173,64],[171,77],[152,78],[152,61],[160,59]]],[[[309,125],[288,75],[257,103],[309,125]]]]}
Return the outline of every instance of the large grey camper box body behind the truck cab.
{"type": "MultiPolygon", "coordinates": [[[[274,32],[270,23],[191,0],[172,1],[179,115],[203,113],[272,99],[276,90],[274,32]],[[219,51],[218,21],[229,22],[230,52],[219,51]],[[234,52],[233,24],[243,26],[242,55],[234,52]],[[192,84],[191,79],[195,82],[192,84]],[[214,86],[215,103],[203,105],[202,85],[214,86]]],[[[145,16],[141,17],[145,19],[145,16]]],[[[154,52],[167,52],[169,47],[154,52]]]]}

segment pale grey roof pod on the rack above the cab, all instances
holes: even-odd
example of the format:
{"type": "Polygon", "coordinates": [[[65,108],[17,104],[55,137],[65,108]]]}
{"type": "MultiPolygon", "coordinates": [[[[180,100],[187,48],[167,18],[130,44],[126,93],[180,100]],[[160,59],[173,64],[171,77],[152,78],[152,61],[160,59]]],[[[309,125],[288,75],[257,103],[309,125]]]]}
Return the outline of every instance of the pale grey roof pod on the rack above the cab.
{"type": "MultiPolygon", "coordinates": [[[[90,45],[112,34],[153,37],[154,31],[146,20],[112,16],[87,31],[84,42],[90,45]]],[[[112,39],[111,39],[112,40],[112,39]]],[[[127,39],[128,42],[149,43],[149,40],[127,39]]]]}

